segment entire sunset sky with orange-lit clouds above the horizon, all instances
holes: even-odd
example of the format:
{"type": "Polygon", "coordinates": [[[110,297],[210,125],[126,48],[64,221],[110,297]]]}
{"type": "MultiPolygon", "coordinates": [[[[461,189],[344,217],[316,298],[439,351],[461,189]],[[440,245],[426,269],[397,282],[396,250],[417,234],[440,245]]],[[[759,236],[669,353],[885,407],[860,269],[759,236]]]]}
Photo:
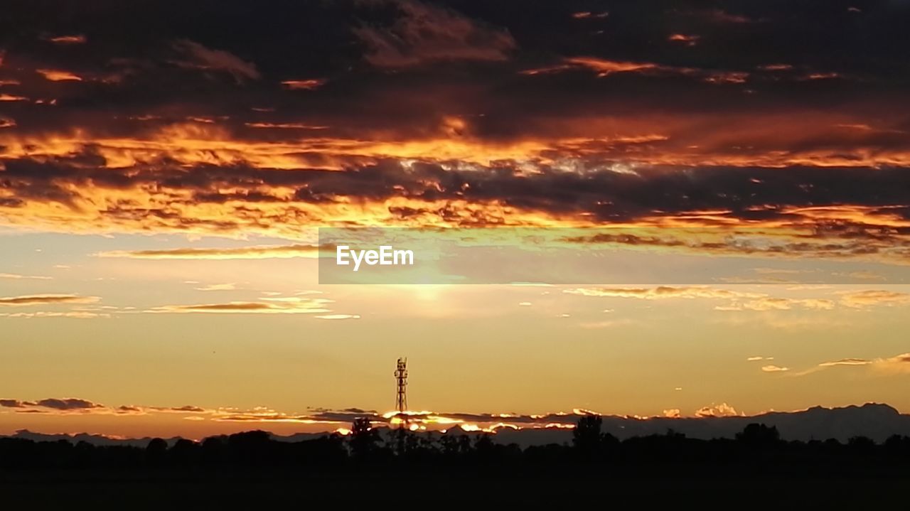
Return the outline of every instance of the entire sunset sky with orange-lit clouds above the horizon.
{"type": "Polygon", "coordinates": [[[910,413],[908,23],[7,2],[0,434],[331,431],[394,408],[399,356],[416,427],[910,413]],[[331,285],[320,227],[574,235],[445,268],[480,284],[331,285]]]}

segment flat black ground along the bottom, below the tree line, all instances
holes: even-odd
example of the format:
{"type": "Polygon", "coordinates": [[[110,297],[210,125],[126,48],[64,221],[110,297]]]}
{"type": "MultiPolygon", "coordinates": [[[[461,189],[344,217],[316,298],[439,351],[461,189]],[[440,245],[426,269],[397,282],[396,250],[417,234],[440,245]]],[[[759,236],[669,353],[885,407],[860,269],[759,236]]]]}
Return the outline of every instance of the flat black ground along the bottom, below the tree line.
{"type": "MultiPolygon", "coordinates": [[[[728,470],[667,467],[652,475],[564,471],[509,473],[499,470],[399,472],[389,466],[329,469],[325,472],[246,474],[42,473],[0,477],[5,509],[162,509],[216,506],[262,509],[306,508],[314,504],[347,508],[380,506],[635,505],[807,509],[905,509],[910,476],[773,476],[728,470]],[[701,474],[699,473],[701,472],[701,474]],[[7,507],[8,506],[8,507],[7,507]]],[[[749,471],[747,471],[749,472],[749,471]]]]}

